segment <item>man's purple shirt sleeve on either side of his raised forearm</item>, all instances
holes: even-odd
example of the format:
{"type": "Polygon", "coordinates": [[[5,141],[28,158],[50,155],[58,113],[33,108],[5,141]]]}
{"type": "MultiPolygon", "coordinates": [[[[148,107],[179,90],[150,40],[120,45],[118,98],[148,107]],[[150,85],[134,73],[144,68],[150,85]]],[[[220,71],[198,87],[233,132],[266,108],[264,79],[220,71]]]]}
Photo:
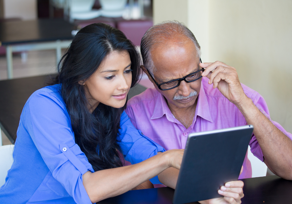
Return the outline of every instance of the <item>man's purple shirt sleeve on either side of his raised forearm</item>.
{"type": "MultiPolygon", "coordinates": [[[[253,103],[256,105],[256,107],[280,130],[282,131],[290,140],[292,140],[292,134],[288,133],[279,123],[272,121],[270,117],[270,112],[267,106],[267,103],[263,96],[260,94],[256,94],[256,96],[253,99],[253,103]]],[[[251,147],[251,152],[258,158],[260,161],[264,161],[263,152],[260,148],[260,145],[258,143],[258,140],[256,139],[256,136],[253,134],[251,141],[249,143],[251,147]]]]}

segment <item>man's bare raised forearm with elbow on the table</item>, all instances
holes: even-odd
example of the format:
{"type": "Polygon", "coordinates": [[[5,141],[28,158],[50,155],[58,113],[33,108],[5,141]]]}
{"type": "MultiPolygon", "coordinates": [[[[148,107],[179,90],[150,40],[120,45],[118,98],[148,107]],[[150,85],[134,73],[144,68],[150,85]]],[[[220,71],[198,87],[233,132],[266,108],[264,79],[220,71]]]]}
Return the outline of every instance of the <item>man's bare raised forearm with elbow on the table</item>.
{"type": "Polygon", "coordinates": [[[258,108],[247,98],[245,103],[237,105],[246,122],[254,126],[256,136],[263,152],[265,163],[278,176],[292,180],[292,141],[280,131],[258,108]]]}

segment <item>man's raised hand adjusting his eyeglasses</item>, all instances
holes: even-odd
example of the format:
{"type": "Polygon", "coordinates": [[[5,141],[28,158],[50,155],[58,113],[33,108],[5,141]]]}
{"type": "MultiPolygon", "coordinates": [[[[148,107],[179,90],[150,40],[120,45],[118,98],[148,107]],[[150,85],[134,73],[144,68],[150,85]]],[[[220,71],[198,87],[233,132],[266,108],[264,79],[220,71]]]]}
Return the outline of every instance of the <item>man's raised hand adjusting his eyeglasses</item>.
{"type": "Polygon", "coordinates": [[[213,88],[218,88],[230,102],[237,105],[247,99],[234,67],[220,61],[200,63],[200,66],[206,68],[202,76],[208,77],[209,84],[213,84],[213,88]]]}

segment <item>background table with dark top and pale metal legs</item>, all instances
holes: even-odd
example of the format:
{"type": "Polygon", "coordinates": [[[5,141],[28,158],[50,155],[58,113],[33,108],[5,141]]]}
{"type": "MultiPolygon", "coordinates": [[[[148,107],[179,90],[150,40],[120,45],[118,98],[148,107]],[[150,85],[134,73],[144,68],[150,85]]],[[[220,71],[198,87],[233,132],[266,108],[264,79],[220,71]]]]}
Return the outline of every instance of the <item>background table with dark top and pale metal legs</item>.
{"type": "Polygon", "coordinates": [[[64,19],[39,19],[0,22],[0,46],[6,46],[7,75],[13,78],[12,52],[56,49],[56,62],[61,48],[72,41],[74,25],[64,19]]]}

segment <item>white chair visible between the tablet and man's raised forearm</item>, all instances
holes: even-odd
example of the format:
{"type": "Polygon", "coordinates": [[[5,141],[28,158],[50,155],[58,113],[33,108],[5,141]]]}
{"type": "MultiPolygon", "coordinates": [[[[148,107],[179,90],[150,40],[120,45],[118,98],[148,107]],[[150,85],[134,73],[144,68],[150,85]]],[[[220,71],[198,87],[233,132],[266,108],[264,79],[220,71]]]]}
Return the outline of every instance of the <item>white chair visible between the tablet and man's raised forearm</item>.
{"type": "Polygon", "coordinates": [[[252,178],[262,177],[267,175],[267,165],[260,161],[256,156],[251,153],[251,147],[248,145],[247,157],[251,161],[252,178]]]}

